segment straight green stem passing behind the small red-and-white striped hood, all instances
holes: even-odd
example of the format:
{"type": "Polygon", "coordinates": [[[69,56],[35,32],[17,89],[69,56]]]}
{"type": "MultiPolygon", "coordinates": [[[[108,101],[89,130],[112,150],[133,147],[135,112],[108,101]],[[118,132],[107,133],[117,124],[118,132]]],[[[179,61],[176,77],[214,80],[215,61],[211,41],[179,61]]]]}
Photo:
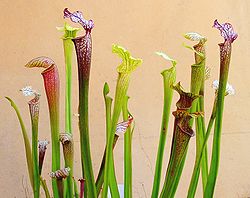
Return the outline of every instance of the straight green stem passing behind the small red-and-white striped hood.
{"type": "MultiPolygon", "coordinates": [[[[122,108],[123,120],[128,120],[128,99],[126,96],[122,108]]],[[[124,134],[124,197],[132,198],[132,134],[129,126],[124,134]]]]}

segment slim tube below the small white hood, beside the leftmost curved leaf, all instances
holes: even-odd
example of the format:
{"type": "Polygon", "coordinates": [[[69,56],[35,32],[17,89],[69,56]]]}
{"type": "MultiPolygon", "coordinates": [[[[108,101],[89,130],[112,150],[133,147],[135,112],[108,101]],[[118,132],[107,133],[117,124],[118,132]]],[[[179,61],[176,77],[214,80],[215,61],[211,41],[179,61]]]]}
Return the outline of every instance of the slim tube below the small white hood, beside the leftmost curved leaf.
{"type": "Polygon", "coordinates": [[[39,98],[36,94],[35,98],[29,101],[29,110],[32,126],[32,159],[34,173],[34,198],[40,197],[40,174],[38,160],[38,120],[39,120],[39,98]]]}

